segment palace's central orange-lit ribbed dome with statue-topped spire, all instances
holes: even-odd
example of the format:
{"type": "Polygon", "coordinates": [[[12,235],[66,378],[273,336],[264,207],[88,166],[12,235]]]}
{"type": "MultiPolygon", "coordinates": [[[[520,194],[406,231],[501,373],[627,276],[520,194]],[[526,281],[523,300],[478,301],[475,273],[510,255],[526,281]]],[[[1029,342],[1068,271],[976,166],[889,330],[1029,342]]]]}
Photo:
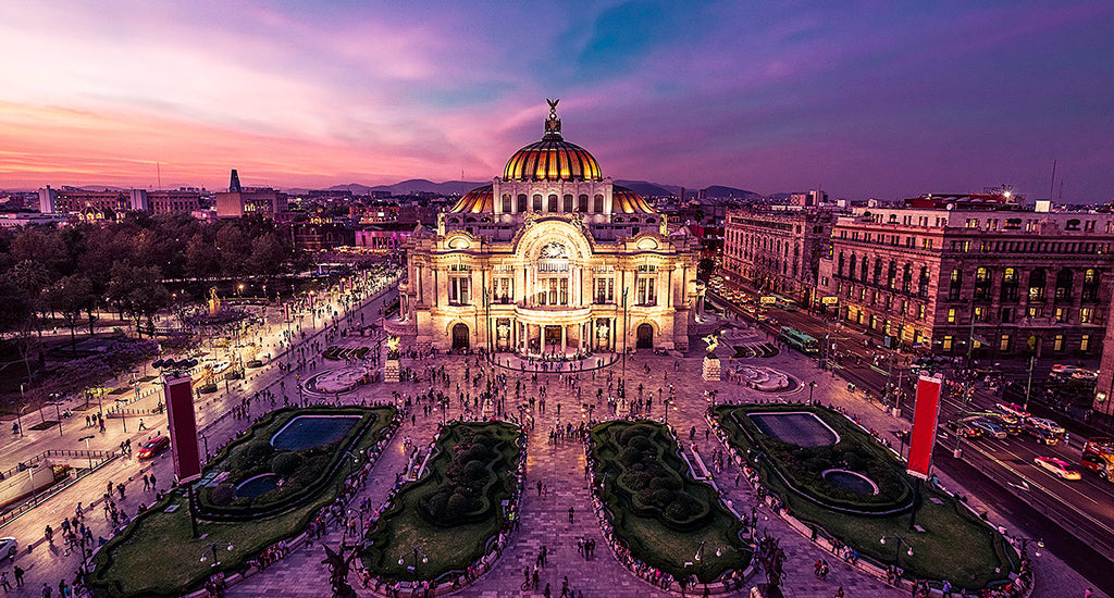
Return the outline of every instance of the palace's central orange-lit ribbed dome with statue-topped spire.
{"type": "Polygon", "coordinates": [[[583,147],[561,138],[557,100],[549,100],[549,119],[540,141],[515,153],[504,180],[603,180],[599,163],[583,147]]]}

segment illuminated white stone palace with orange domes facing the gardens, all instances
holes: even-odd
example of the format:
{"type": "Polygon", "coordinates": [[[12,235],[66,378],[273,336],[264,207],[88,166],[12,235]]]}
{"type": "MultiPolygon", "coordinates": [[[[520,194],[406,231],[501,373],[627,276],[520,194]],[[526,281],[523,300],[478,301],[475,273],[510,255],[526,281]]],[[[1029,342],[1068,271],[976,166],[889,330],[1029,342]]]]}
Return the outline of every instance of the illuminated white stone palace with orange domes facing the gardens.
{"type": "Polygon", "coordinates": [[[698,244],[561,136],[540,141],[407,242],[388,330],[438,351],[574,357],[688,345],[698,244]]]}

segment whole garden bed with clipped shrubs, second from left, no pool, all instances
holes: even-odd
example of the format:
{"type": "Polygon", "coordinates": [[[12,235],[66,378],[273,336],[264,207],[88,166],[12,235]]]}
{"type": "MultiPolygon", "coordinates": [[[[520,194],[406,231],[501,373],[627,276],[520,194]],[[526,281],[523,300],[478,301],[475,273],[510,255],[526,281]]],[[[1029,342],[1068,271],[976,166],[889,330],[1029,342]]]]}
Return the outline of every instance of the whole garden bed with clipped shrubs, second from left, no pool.
{"type": "Polygon", "coordinates": [[[410,581],[459,575],[482,557],[506,526],[501,504],[515,492],[520,434],[506,422],[442,429],[428,474],[405,484],[369,532],[364,566],[410,581]]]}

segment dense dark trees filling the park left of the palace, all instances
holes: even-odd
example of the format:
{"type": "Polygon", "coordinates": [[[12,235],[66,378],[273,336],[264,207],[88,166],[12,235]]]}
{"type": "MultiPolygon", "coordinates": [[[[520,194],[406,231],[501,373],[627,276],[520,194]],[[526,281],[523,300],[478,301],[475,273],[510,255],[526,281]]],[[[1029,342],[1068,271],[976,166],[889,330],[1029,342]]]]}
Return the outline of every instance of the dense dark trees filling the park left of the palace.
{"type": "Polygon", "coordinates": [[[104,226],[2,231],[0,332],[19,347],[30,379],[28,354],[41,347],[48,317],[70,329],[76,351],[77,329],[88,323],[92,334],[99,310],[133,320],[139,331],[170,305],[168,285],[267,280],[295,262],[290,235],[261,218],[209,224],[180,214],[128,214],[104,226]]]}

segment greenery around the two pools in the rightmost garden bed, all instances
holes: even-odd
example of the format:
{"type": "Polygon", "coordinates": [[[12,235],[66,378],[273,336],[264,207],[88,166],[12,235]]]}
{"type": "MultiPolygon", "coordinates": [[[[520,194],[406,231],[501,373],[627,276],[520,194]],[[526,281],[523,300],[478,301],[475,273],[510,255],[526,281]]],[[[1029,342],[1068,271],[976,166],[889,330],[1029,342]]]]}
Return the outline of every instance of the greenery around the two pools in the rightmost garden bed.
{"type": "Polygon", "coordinates": [[[905,490],[915,486],[913,480],[893,453],[843,415],[818,406],[761,404],[721,405],[715,416],[727,442],[740,454],[751,455],[762,483],[781,498],[793,517],[839,539],[862,558],[883,566],[897,562],[908,577],[947,579],[968,589],[1003,580],[1016,568],[1016,552],[1001,535],[947,492],[921,484],[913,516],[913,497],[905,490]],[[803,450],[763,434],[746,416],[776,411],[817,414],[840,434],[840,443],[803,450]],[[832,468],[870,477],[878,483],[879,494],[856,496],[832,487],[818,473],[832,468]],[[899,482],[893,482],[895,478],[899,482]],[[902,504],[908,507],[885,509],[902,504]],[[913,531],[913,523],[924,531],[913,531]],[[899,546],[896,536],[907,543],[899,546]],[[889,538],[888,543],[883,545],[882,538],[889,538]],[[911,556],[899,552],[910,547],[911,556]]]}

